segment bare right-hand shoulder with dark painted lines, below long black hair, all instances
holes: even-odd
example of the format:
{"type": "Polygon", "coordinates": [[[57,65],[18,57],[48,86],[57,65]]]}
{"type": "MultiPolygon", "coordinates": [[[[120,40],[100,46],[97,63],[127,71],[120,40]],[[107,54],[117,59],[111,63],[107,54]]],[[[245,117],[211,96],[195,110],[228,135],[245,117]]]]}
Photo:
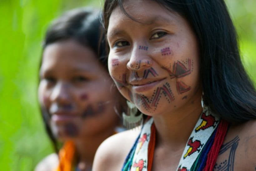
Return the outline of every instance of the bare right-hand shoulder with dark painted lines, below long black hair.
{"type": "Polygon", "coordinates": [[[229,128],[214,170],[256,170],[256,120],[229,128]]]}

